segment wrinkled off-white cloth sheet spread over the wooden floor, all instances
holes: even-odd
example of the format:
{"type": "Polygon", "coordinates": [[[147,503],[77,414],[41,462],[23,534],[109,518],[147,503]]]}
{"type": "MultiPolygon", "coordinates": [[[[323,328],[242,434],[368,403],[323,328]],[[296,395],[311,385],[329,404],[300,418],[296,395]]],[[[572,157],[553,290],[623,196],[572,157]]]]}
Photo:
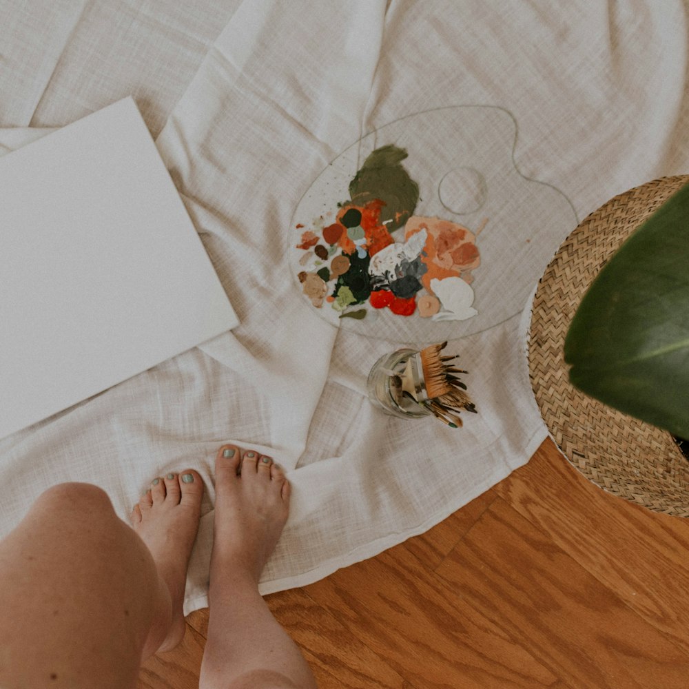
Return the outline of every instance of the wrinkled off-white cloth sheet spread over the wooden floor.
{"type": "MultiPolygon", "coordinates": [[[[188,613],[207,604],[220,444],[289,469],[291,516],[264,593],[422,533],[528,461],[546,437],[522,345],[529,285],[588,212],[686,173],[686,15],[679,0],[0,0],[0,145],[132,93],[240,318],[232,333],[0,441],[0,535],[52,484],[99,484],[126,519],[153,477],[192,466],[207,491],[188,613]],[[472,128],[476,107],[495,125],[472,128]],[[434,139],[414,116],[441,108],[449,124],[434,139]],[[369,135],[408,145],[420,214],[438,214],[433,161],[468,150],[468,138],[524,183],[501,190],[495,170],[480,171],[491,217],[517,210],[514,227],[486,225],[477,240],[485,329],[457,326],[449,345],[479,411],[463,429],[392,418],[366,398],[379,356],[438,331],[417,316],[401,331],[382,317],[336,329],[294,274],[302,198],[369,135]],[[524,227],[535,203],[541,221],[524,227]],[[537,250],[515,253],[510,233],[537,250]],[[491,320],[513,292],[518,303],[491,320]]],[[[324,203],[337,194],[346,189],[324,203]]],[[[479,215],[464,219],[475,227],[479,215]]]]}

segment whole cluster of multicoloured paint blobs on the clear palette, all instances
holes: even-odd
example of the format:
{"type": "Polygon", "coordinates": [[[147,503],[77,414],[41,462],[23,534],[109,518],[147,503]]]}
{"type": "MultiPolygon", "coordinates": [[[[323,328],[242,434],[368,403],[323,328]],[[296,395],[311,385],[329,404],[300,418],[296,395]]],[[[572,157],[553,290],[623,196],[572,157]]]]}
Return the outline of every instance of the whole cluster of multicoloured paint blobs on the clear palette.
{"type": "Polygon", "coordinates": [[[415,216],[419,187],[404,158],[407,151],[394,145],[374,150],[352,178],[349,199],[337,204],[334,222],[302,232],[299,263],[311,270],[298,278],[314,307],[327,304],[339,318],[356,319],[367,307],[431,320],[477,315],[471,282],[483,225],[474,234],[450,220],[415,216]]]}

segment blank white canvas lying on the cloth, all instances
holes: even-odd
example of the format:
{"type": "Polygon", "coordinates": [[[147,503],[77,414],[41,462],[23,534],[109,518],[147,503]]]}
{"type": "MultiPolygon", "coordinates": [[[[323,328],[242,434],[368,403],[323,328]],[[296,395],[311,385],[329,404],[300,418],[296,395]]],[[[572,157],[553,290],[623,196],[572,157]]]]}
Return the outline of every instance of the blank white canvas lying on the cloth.
{"type": "Polygon", "coordinates": [[[0,438],[238,320],[131,98],[0,159],[0,438]]]}

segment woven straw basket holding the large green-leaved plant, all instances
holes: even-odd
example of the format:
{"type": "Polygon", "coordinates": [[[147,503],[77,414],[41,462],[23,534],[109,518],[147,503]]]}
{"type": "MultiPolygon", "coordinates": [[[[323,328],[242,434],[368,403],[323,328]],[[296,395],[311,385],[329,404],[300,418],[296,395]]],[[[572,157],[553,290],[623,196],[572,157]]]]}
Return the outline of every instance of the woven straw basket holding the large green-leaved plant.
{"type": "Polygon", "coordinates": [[[559,449],[608,493],[651,510],[689,516],[689,462],[670,433],[606,407],[573,388],[564,339],[579,301],[621,243],[689,175],[615,196],[566,239],[541,278],[528,331],[528,367],[541,414],[559,449]]]}

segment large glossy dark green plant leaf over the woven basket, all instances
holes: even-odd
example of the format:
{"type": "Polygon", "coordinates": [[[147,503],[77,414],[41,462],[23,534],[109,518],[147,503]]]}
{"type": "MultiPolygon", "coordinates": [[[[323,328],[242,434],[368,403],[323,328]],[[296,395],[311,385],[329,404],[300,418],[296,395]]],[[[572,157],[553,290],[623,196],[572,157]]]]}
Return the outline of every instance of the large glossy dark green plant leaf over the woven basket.
{"type": "Polygon", "coordinates": [[[584,393],[689,438],[689,185],[599,272],[571,322],[564,358],[584,393]]]}

